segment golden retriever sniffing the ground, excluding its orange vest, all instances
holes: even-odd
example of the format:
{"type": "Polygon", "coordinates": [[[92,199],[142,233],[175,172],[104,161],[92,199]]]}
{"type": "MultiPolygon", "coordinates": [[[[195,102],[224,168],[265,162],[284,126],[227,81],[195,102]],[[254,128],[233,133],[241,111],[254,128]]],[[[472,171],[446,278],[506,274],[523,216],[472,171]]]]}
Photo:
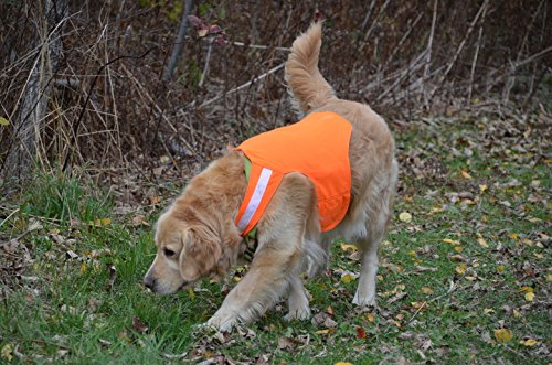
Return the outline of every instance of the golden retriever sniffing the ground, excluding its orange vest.
{"type": "MultiPolygon", "coordinates": [[[[350,126],[347,153],[341,162],[332,162],[347,168],[342,179],[332,178],[348,186],[341,201],[347,205],[341,207],[342,216],[323,229],[315,179],[299,171],[280,174],[256,223],[258,246],[251,267],[206,322],[221,331],[254,321],[286,297],[286,319],[308,319],[309,301],[301,273],[311,278],[326,269],[329,246],[336,238],[353,243],[361,254],[353,303],[375,305],[378,248],[392,215],[397,181],[394,140],[376,112],[368,105],[339,99],[320,74],[321,34],[322,25],[316,22],[295,40],[285,79],[307,118],[329,115],[350,126]]],[[[257,148],[262,146],[257,143],[257,148]]],[[[157,255],[144,278],[151,291],[168,294],[201,278],[224,276],[246,253],[247,241],[238,228],[242,222],[236,221],[250,190],[244,173],[246,153],[233,149],[213,161],[159,217],[157,255]]]]}

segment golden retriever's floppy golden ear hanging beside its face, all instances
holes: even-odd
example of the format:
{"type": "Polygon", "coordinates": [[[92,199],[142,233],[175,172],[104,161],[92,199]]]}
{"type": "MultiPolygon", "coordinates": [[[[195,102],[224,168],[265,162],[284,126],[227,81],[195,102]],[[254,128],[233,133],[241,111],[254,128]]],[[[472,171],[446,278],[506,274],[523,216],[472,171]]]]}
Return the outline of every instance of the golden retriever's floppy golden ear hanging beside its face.
{"type": "Polygon", "coordinates": [[[182,278],[192,282],[211,272],[221,258],[219,237],[205,227],[191,227],[182,236],[179,264],[182,278]]]}

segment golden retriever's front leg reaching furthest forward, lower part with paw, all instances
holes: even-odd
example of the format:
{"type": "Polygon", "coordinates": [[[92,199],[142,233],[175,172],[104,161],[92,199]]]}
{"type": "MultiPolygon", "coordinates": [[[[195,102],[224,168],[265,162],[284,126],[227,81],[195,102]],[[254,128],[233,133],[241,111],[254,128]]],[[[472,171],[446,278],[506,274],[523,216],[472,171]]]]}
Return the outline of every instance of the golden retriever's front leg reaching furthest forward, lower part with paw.
{"type": "Polygon", "coordinates": [[[289,288],[289,276],[297,271],[300,255],[300,250],[295,249],[276,250],[270,244],[262,247],[255,254],[251,269],[226,296],[208,324],[230,331],[237,322],[247,323],[264,314],[289,288]]]}

